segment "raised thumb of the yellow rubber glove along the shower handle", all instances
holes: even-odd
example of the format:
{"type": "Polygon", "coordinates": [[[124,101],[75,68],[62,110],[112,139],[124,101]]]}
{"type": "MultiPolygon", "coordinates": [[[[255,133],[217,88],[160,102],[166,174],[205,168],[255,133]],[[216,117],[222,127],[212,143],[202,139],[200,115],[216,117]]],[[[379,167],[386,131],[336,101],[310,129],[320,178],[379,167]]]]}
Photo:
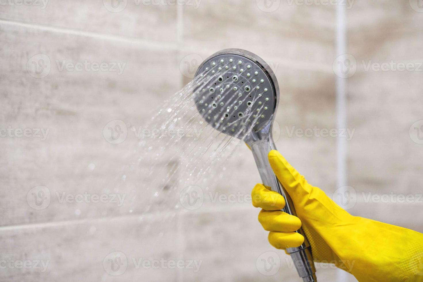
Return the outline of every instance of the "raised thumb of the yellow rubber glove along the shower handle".
{"type": "Polygon", "coordinates": [[[297,200],[301,200],[311,193],[313,187],[278,151],[270,151],[268,157],[273,172],[275,172],[277,179],[291,196],[294,204],[297,200]]]}

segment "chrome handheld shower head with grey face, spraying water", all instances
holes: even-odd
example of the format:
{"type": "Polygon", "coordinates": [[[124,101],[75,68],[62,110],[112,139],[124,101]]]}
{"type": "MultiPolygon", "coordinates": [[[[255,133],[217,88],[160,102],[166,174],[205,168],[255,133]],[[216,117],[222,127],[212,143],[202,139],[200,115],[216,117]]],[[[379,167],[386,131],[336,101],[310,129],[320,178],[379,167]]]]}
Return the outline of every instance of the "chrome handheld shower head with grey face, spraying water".
{"type": "MultiPolygon", "coordinates": [[[[249,145],[263,184],[283,195],[283,211],[295,216],[294,204],[267,159],[268,153],[276,149],[272,124],[279,102],[279,86],[272,69],[251,52],[225,49],[204,60],[196,76],[203,77],[194,90],[194,99],[204,120],[249,145]]],[[[310,244],[302,228],[297,232],[305,241],[287,252],[303,282],[316,282],[310,244]]]]}

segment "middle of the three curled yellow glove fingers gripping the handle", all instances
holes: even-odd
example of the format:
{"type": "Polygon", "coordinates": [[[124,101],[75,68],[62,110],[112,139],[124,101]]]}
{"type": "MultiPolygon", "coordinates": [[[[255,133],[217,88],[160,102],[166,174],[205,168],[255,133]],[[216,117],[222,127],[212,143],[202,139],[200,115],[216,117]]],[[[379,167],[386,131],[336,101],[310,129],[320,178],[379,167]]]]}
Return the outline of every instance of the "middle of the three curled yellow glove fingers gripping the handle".
{"type": "Polygon", "coordinates": [[[266,231],[294,232],[301,227],[301,220],[297,216],[283,211],[261,210],[258,221],[266,231]]]}

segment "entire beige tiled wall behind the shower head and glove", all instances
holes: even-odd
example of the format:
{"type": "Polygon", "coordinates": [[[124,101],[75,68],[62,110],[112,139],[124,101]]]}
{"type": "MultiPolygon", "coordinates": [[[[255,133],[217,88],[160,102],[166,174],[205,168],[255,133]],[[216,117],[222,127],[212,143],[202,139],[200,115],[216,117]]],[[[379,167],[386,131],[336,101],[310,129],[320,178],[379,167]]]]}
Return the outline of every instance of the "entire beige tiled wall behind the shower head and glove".
{"type": "MultiPolygon", "coordinates": [[[[408,1],[400,6],[385,2],[355,3],[348,11],[350,52],[357,61],[421,58],[417,38],[422,14],[410,10],[408,1]],[[372,11],[379,17],[369,16],[372,11]],[[396,22],[397,17],[402,20],[396,22]]],[[[1,128],[49,130],[45,140],[0,138],[4,195],[0,199],[0,259],[42,261],[48,266],[46,271],[33,265],[9,267],[0,272],[0,280],[297,279],[284,252],[268,244],[267,233],[256,220],[258,210],[250,203],[207,203],[196,211],[173,213],[165,206],[174,206],[177,198],[153,200],[130,186],[117,190],[116,178],[137,141],[127,138],[110,144],[103,129],[116,119],[143,125],[151,108],[190,81],[186,60],[194,68],[193,57],[204,59],[224,48],[247,49],[263,57],[279,81],[277,148],[310,183],[332,194],[338,188],[335,138],[296,137],[289,132],[294,126],[336,126],[335,7],[289,1],[265,6],[259,0],[201,0],[186,5],[128,0],[121,2],[125,7],[117,1],[111,6],[109,0],[49,0],[45,7],[43,2],[36,3],[41,6],[9,3],[0,9],[1,128]],[[42,78],[31,68],[32,61],[40,62],[39,54],[50,62],[50,71],[42,78]],[[67,71],[58,66],[63,60],[126,65],[121,74],[67,71]],[[52,195],[114,192],[126,195],[126,201],[116,205],[56,198],[37,209],[27,200],[37,186],[46,186],[52,195]],[[143,213],[142,207],[151,203],[156,208],[143,213]],[[280,257],[281,269],[266,276],[256,263],[269,251],[280,257]],[[127,259],[126,271],[119,276],[110,275],[103,265],[114,252],[123,252],[127,259]],[[201,260],[202,264],[198,272],[153,269],[137,266],[133,258],[201,260]]],[[[421,82],[419,73],[360,69],[349,79],[349,127],[356,129],[348,143],[349,178],[357,192],[397,191],[398,187],[401,192],[418,192],[421,145],[410,140],[408,129],[421,119],[421,82]]],[[[220,193],[249,194],[260,182],[246,147],[240,147],[226,166],[231,175],[214,187],[220,193]]],[[[139,175],[136,181],[148,179],[139,175]]],[[[353,211],[415,227],[415,220],[399,215],[415,214],[420,207],[357,202],[353,211]]],[[[318,271],[321,281],[335,281],[336,271],[318,271]]]]}

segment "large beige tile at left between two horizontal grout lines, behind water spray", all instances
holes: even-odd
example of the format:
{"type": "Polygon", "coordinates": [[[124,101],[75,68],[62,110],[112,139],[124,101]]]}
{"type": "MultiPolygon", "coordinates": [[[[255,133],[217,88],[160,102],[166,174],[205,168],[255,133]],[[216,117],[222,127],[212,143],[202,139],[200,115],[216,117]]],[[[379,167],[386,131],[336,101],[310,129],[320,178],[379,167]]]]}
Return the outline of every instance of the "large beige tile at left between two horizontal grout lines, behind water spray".
{"type": "MultiPolygon", "coordinates": [[[[2,217],[1,225],[144,210],[149,202],[143,200],[147,195],[142,197],[141,193],[150,191],[139,186],[151,178],[131,175],[136,177],[128,179],[132,186],[116,179],[137,158],[132,150],[138,139],[133,131],[128,131],[123,143],[110,144],[103,129],[111,120],[143,126],[151,110],[179,89],[176,53],[8,24],[2,25],[2,30],[0,61],[4,67],[0,81],[7,105],[1,113],[2,123],[5,128],[41,128],[49,132],[45,140],[0,139],[2,189],[5,194],[14,191],[2,198],[1,209],[8,216],[2,217]],[[32,77],[27,71],[28,60],[37,54],[45,54],[50,60],[51,69],[44,78],[32,77]],[[126,66],[120,75],[110,71],[60,71],[56,60],[59,64],[62,60],[87,60],[126,66]],[[30,208],[26,199],[30,189],[39,185],[47,186],[52,195],[48,208],[41,211],[30,208]],[[121,207],[110,203],[59,203],[56,192],[60,196],[63,192],[126,194],[126,200],[121,207]]],[[[140,170],[150,166],[143,163],[140,170]]]]}

